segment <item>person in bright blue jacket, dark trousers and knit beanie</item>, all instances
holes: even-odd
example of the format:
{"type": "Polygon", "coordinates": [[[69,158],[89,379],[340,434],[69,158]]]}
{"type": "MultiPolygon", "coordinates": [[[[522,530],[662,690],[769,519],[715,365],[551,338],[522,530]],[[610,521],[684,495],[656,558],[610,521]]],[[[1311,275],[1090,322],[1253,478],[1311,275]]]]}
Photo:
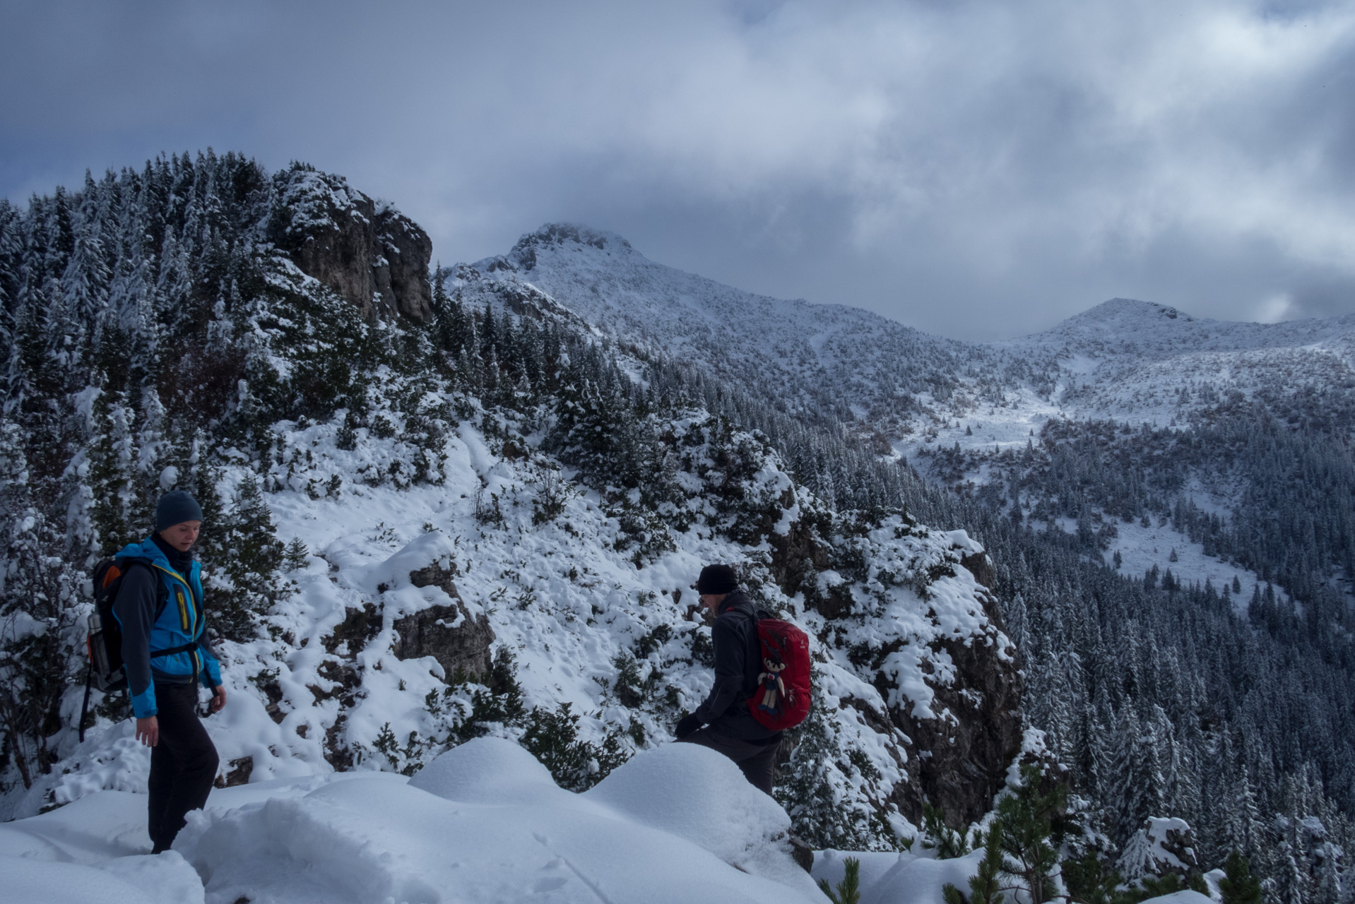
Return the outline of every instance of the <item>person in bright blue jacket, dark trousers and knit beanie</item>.
{"type": "Polygon", "coordinates": [[[217,748],[198,718],[198,682],[211,689],[213,713],[226,705],[221,665],[202,609],[201,565],[192,545],[202,508],[175,491],[156,506],[156,531],[118,553],[122,587],[112,614],[122,626],[137,740],[150,749],[146,829],[152,852],[168,850],[184,815],[202,809],[217,775],[217,748]]]}

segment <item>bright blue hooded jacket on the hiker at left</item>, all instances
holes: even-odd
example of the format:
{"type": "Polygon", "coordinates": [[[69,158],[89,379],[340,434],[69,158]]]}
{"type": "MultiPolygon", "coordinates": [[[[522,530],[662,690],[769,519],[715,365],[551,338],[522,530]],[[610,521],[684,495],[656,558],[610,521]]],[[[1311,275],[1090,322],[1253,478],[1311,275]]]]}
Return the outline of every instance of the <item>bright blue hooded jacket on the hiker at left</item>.
{"type": "Polygon", "coordinates": [[[150,537],[140,543],[129,543],[115,557],[123,565],[123,584],[114,602],[112,614],[122,628],[122,655],[131,691],[131,712],[137,718],[154,716],[156,680],[192,683],[202,680],[207,687],[221,684],[221,665],[205,636],[206,618],[202,609],[202,567],[191,562],[187,575],[175,571],[164,550],[150,537]],[[126,565],[141,562],[159,577],[161,592],[150,592],[148,581],[138,580],[142,569],[126,565]],[[168,599],[156,617],[159,599],[168,599]],[[178,646],[192,646],[168,656],[150,653],[178,646]]]}

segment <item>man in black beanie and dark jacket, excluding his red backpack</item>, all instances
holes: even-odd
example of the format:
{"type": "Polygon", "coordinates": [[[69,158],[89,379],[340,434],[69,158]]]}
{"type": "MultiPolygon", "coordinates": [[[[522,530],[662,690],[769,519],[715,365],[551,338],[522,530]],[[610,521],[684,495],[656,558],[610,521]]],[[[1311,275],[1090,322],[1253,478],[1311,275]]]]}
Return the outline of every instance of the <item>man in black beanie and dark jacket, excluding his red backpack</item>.
{"type": "Polygon", "coordinates": [[[720,751],[738,764],[749,782],[771,794],[782,733],[763,726],[748,710],[748,697],[757,689],[762,671],[757,610],[738,590],[729,565],[702,568],[696,592],[701,604],[715,615],[710,629],[715,686],[695,713],[678,722],[675,735],[679,741],[720,751]]]}

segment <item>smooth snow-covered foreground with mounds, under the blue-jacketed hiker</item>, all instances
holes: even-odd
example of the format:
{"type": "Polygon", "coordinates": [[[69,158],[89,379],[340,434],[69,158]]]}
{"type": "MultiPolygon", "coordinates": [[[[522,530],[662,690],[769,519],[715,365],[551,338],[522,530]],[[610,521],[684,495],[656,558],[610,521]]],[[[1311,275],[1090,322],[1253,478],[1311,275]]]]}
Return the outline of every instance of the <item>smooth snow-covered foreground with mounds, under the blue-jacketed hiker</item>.
{"type": "Polygon", "coordinates": [[[584,794],[511,741],[413,779],[336,774],[213,792],[150,857],[145,798],[102,792],[0,825],[7,901],[813,901],[790,820],[724,756],[669,744],[584,794]],[[201,878],[199,878],[201,877],[201,878]]]}

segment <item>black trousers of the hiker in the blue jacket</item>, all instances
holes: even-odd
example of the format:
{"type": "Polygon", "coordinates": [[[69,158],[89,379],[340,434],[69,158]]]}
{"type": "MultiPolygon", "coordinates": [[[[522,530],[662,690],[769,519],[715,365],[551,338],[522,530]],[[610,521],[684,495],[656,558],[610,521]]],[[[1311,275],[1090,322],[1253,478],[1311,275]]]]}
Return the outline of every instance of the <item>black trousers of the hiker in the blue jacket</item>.
{"type": "Polygon", "coordinates": [[[196,684],[156,682],[160,741],[150,748],[150,815],[156,852],[173,844],[184,813],[202,809],[217,777],[217,748],[198,718],[196,684]]]}

